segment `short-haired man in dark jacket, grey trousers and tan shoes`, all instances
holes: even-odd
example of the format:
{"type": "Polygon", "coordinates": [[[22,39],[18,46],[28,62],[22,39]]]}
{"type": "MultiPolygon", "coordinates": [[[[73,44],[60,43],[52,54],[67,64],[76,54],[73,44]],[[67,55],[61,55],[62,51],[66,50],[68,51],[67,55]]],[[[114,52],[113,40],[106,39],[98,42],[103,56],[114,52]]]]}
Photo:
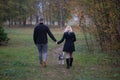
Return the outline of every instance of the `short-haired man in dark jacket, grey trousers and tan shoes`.
{"type": "Polygon", "coordinates": [[[48,38],[47,34],[50,38],[56,42],[55,37],[51,33],[48,26],[43,24],[44,20],[40,19],[39,25],[37,25],[34,29],[33,39],[34,43],[38,48],[38,56],[40,64],[46,67],[46,60],[47,60],[47,51],[48,51],[48,38]]]}

